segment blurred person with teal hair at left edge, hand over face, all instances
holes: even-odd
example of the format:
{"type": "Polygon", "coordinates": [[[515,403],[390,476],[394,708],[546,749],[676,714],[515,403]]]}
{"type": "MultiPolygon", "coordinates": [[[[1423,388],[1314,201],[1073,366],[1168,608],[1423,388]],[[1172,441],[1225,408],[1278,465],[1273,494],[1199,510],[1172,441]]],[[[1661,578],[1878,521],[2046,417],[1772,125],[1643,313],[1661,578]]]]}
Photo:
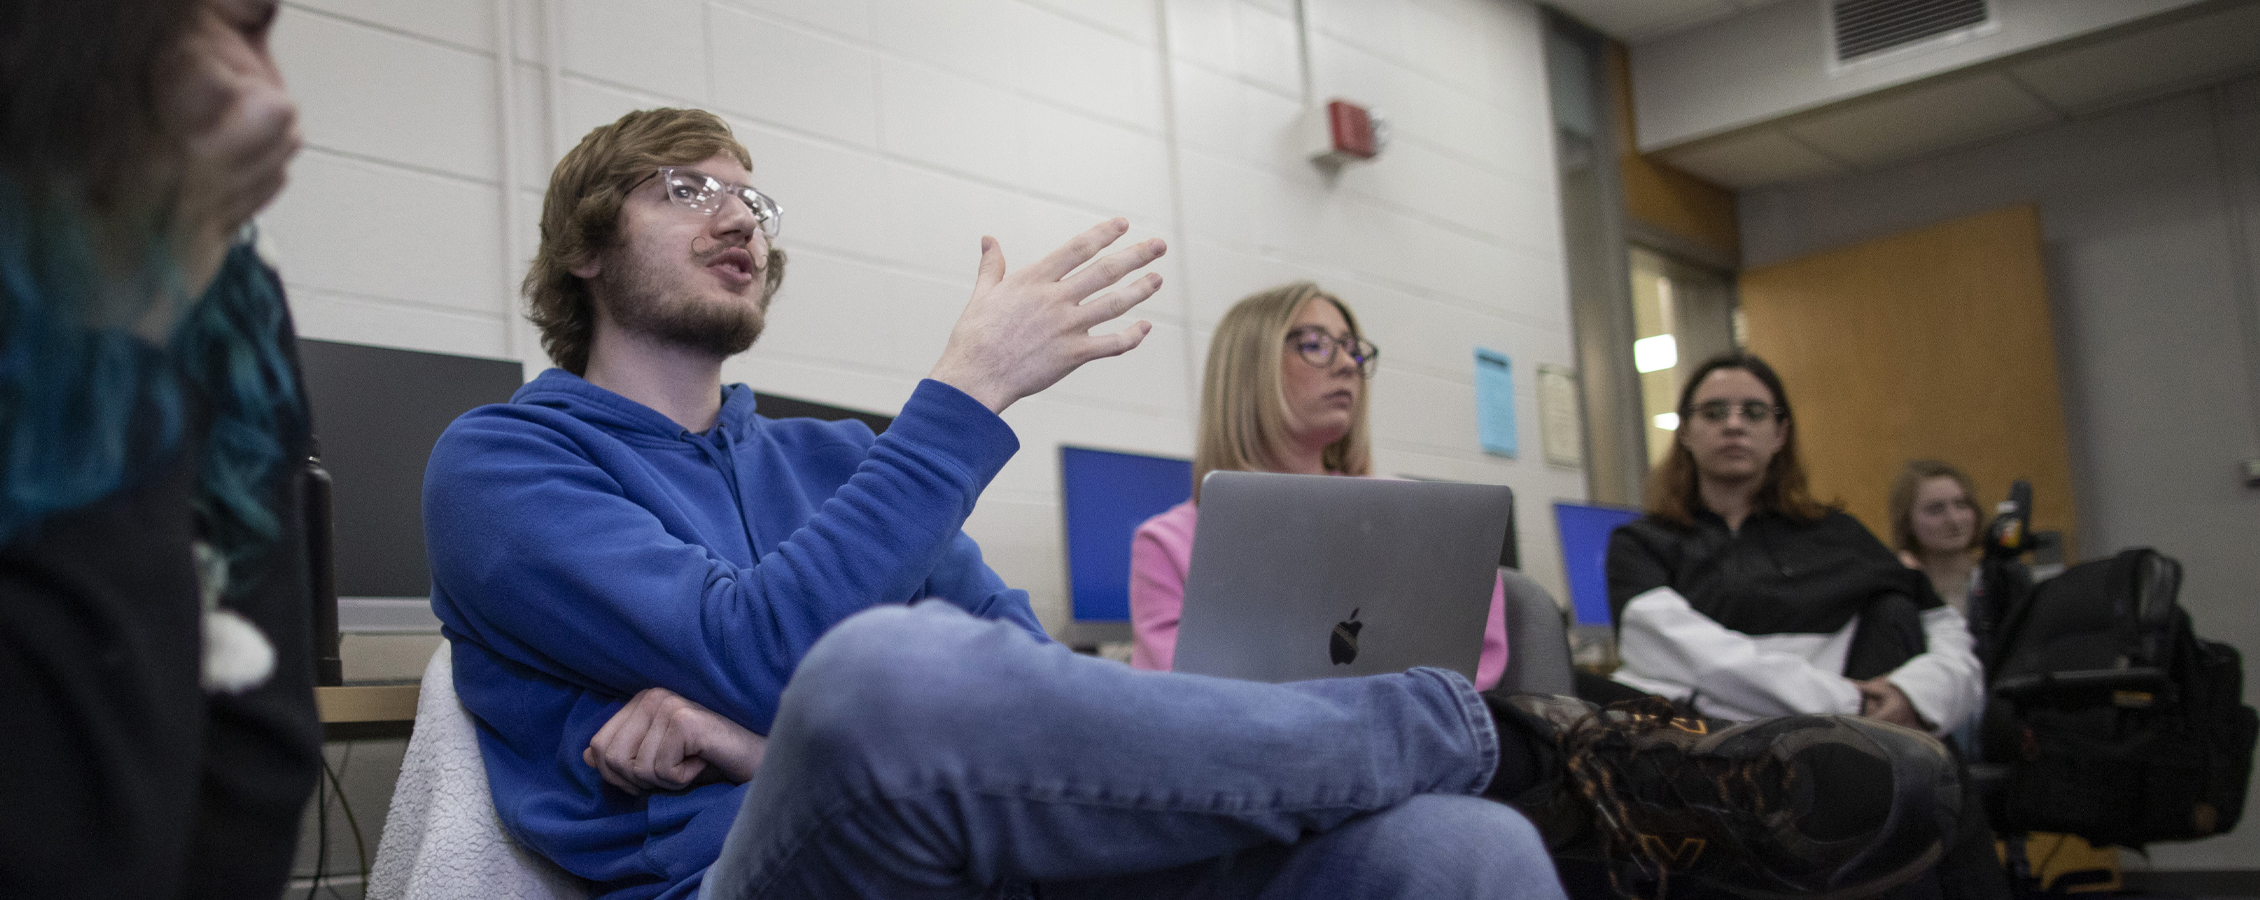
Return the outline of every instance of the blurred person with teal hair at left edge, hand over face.
{"type": "Polygon", "coordinates": [[[0,2],[5,898],[273,898],[321,767],[276,0],[0,2]]]}

